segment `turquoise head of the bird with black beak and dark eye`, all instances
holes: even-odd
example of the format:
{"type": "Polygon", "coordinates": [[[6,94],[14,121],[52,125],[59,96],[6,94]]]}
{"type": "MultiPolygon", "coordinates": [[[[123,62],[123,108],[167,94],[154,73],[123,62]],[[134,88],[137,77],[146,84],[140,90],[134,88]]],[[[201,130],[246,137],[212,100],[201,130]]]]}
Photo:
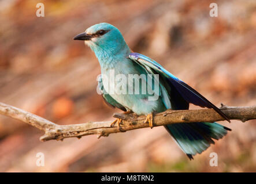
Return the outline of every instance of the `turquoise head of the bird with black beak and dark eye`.
{"type": "Polygon", "coordinates": [[[95,24],[85,32],[77,34],[74,40],[84,40],[97,57],[114,55],[120,49],[129,49],[120,31],[108,23],[95,24]]]}

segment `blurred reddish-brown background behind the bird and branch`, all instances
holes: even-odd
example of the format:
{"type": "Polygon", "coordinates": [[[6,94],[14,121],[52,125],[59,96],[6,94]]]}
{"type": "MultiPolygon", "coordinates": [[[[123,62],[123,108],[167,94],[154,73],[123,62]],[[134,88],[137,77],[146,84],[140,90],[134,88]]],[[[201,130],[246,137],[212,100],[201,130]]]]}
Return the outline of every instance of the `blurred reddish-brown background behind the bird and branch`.
{"type": "MultiPolygon", "coordinates": [[[[256,104],[256,1],[0,1],[0,101],[57,124],[112,120],[96,92],[94,53],[73,37],[99,22],[123,33],[213,104],[256,104]],[[36,17],[36,3],[45,17],[36,17]],[[218,4],[218,17],[209,5],[218,4]]],[[[198,108],[192,106],[191,108],[198,108]]],[[[256,171],[256,123],[221,122],[224,139],[189,161],[163,127],[97,139],[47,141],[38,129],[0,116],[0,171],[256,171]],[[36,154],[45,166],[36,166],[36,154]],[[218,167],[209,154],[217,152],[218,167]]]]}

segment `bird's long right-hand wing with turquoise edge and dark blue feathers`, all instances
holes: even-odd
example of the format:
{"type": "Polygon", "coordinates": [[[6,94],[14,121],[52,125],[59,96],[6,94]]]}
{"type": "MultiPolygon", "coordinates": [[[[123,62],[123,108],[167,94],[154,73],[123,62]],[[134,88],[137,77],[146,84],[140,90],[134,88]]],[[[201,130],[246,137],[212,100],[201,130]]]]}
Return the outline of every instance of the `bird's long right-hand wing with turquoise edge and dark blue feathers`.
{"type": "Polygon", "coordinates": [[[164,76],[170,87],[175,87],[175,90],[179,93],[178,95],[181,96],[186,102],[201,106],[203,108],[212,108],[216,110],[216,112],[222,117],[224,117],[225,120],[230,122],[229,118],[224,113],[222,113],[220,109],[218,109],[215,105],[203,97],[203,95],[192,89],[192,87],[188,86],[176,76],[172,75],[169,71],[165,70],[164,67],[162,67],[154,60],[136,52],[130,53],[129,58],[143,66],[146,70],[154,70],[159,75],[164,76]]]}

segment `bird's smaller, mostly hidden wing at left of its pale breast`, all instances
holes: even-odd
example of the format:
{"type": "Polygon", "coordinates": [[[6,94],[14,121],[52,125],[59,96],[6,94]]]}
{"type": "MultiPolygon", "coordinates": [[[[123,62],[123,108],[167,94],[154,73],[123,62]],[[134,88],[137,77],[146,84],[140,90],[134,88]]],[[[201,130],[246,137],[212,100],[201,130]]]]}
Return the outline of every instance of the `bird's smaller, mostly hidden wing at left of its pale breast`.
{"type": "Polygon", "coordinates": [[[99,92],[102,94],[102,97],[103,97],[103,99],[104,99],[104,101],[106,102],[107,105],[109,105],[112,108],[118,108],[118,109],[121,109],[123,111],[127,111],[123,105],[119,104],[114,98],[112,98],[106,92],[106,90],[104,89],[103,83],[102,83],[101,75],[98,78],[98,86],[97,87],[99,89],[99,92]]]}

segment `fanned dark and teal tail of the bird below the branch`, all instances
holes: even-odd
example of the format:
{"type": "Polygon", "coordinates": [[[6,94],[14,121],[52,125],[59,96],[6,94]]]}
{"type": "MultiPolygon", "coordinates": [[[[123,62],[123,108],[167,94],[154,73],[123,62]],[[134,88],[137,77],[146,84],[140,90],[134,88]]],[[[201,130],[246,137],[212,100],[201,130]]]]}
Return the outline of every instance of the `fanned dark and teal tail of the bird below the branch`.
{"type": "Polygon", "coordinates": [[[165,128],[190,160],[193,159],[193,155],[201,154],[210,144],[214,144],[213,139],[221,139],[227,131],[231,131],[216,122],[171,124],[165,128]]]}

